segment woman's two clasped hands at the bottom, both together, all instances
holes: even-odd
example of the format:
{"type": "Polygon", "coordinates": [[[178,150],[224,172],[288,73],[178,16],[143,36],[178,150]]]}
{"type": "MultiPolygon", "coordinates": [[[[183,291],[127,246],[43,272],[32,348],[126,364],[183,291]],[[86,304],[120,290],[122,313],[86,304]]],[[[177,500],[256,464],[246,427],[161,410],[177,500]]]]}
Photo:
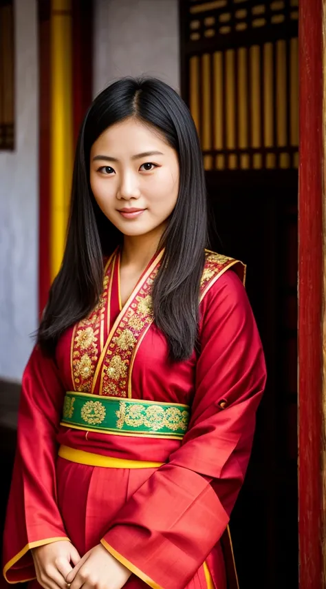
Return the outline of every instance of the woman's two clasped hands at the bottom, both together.
{"type": "Polygon", "coordinates": [[[32,556],[44,589],[122,589],[131,576],[102,544],[80,558],[69,541],[60,540],[33,548],[32,556]]]}

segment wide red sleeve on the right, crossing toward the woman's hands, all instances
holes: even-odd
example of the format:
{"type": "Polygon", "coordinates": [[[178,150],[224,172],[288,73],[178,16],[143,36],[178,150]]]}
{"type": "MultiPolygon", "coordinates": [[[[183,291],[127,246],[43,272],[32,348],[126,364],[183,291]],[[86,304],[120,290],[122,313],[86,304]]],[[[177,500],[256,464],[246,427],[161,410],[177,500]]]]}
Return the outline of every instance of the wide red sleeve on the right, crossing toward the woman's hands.
{"type": "Polygon", "coordinates": [[[182,446],[128,500],[102,544],[154,589],[183,589],[226,530],[265,386],[261,341],[236,274],[201,304],[201,353],[182,446]]]}

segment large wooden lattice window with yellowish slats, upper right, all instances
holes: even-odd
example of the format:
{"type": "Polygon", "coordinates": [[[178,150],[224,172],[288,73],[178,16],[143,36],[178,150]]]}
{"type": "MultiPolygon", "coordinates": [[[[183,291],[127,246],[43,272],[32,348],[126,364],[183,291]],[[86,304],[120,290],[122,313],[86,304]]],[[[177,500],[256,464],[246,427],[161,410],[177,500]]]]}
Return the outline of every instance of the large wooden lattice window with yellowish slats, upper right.
{"type": "Polygon", "coordinates": [[[205,168],[298,167],[298,0],[183,6],[183,94],[205,168]]]}

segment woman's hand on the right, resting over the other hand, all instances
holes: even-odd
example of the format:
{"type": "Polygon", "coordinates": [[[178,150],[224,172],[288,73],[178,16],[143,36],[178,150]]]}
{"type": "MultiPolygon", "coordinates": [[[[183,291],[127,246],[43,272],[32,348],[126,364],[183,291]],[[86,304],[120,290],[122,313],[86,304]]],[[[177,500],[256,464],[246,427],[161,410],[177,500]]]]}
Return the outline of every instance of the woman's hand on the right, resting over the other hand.
{"type": "Polygon", "coordinates": [[[86,552],[66,581],[70,589],[121,589],[130,576],[131,571],[98,544],[86,552]]]}

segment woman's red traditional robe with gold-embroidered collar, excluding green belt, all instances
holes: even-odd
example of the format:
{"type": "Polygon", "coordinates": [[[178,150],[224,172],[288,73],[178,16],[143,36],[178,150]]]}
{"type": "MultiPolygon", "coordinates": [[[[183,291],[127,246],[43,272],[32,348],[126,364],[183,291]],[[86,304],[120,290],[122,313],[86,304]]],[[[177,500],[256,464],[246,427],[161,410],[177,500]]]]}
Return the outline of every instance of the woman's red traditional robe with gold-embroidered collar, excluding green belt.
{"type": "MultiPolygon", "coordinates": [[[[243,483],[265,386],[261,341],[240,262],[206,252],[200,351],[168,362],[153,323],[162,252],[120,302],[120,254],[105,267],[96,309],[67,330],[56,358],[38,347],[23,375],[17,456],[4,534],[4,575],[35,578],[30,548],[69,539],[80,555],[102,542],[133,572],[127,589],[226,589],[220,539],[243,483]],[[240,277],[240,278],[239,278],[240,277]],[[191,406],[182,440],[61,425],[66,391],[191,406]],[[102,468],[58,446],[158,468],[102,468]],[[203,566],[204,564],[204,566],[203,566]]],[[[36,580],[31,583],[37,587],[36,580]]]]}

